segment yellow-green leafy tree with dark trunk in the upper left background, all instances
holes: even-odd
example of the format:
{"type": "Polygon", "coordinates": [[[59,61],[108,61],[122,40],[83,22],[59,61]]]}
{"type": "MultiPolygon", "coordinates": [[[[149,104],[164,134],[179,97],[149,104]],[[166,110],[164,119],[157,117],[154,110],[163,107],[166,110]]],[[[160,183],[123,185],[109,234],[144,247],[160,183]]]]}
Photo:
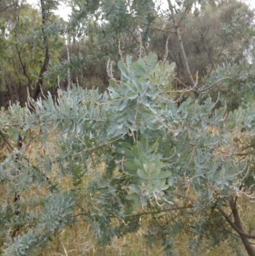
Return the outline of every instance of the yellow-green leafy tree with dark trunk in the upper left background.
{"type": "Polygon", "coordinates": [[[59,38],[58,20],[52,14],[57,2],[42,0],[41,10],[32,8],[25,1],[1,3],[6,9],[1,12],[5,31],[2,33],[5,47],[1,48],[1,89],[8,98],[1,105],[8,105],[9,100],[24,105],[27,92],[36,99],[43,87],[52,82],[43,85],[43,74],[50,58],[52,63],[58,62],[63,44],[59,38]]]}

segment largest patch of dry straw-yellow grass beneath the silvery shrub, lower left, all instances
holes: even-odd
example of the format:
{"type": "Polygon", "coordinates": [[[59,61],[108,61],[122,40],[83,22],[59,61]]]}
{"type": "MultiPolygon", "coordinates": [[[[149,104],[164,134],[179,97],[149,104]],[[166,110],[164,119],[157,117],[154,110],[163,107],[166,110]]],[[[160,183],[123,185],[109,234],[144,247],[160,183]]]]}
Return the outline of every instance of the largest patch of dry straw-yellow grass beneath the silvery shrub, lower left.
{"type": "Polygon", "coordinates": [[[127,234],[126,236],[117,239],[114,238],[111,245],[99,246],[95,243],[90,228],[87,224],[82,227],[64,230],[59,237],[53,242],[55,252],[44,252],[43,256],[77,256],[77,255],[163,255],[162,250],[157,248],[149,248],[143,240],[143,231],[140,230],[135,234],[127,234]],[[58,252],[57,252],[58,250],[58,252]]]}

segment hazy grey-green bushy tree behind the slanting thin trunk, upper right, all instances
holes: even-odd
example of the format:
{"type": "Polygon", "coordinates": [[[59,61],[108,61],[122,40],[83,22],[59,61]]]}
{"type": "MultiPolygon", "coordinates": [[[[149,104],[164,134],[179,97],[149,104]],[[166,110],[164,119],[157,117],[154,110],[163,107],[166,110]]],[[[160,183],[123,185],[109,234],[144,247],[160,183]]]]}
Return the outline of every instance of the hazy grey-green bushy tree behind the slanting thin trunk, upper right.
{"type": "MultiPolygon", "coordinates": [[[[193,77],[196,72],[206,77],[222,62],[238,63],[244,59],[245,49],[251,43],[254,12],[245,3],[222,1],[217,6],[205,4],[203,8],[179,10],[177,23],[193,77]]],[[[171,19],[161,15],[149,49],[164,56],[164,45],[168,38],[168,60],[177,64],[178,76],[187,77],[180,55],[180,47],[171,19]]]]}

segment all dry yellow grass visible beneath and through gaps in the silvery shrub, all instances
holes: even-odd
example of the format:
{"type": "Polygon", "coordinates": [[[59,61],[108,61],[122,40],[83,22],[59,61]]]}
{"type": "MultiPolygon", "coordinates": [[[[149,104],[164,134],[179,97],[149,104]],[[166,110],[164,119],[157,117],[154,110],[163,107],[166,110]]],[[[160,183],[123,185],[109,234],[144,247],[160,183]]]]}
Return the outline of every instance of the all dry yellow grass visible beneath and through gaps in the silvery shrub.
{"type": "MultiPolygon", "coordinates": [[[[52,146],[49,143],[49,146],[52,146]]],[[[34,153],[32,147],[40,148],[40,142],[34,140],[33,143],[29,142],[29,145],[24,147],[25,152],[28,154],[29,159],[34,158],[34,153]]],[[[53,147],[53,146],[52,146],[53,147]]],[[[47,147],[41,149],[40,154],[43,154],[47,151],[47,147]]],[[[104,164],[97,168],[98,170],[104,169],[104,164]]],[[[50,178],[59,179],[57,167],[53,167],[52,175],[50,178]]],[[[61,180],[58,180],[62,184],[62,188],[64,190],[69,190],[72,186],[71,179],[66,176],[61,180]]],[[[84,177],[83,184],[84,186],[87,184],[87,177],[84,177]]],[[[36,189],[31,188],[31,195],[36,193],[37,195],[44,197],[47,193],[44,188],[36,189]]],[[[191,193],[191,192],[189,192],[191,193]]],[[[191,193],[192,195],[193,193],[191,193]]],[[[29,195],[22,195],[22,197],[26,197],[29,195]]],[[[4,200],[11,200],[11,197],[8,199],[6,197],[6,188],[0,188],[0,197],[1,203],[4,200]]],[[[85,199],[84,199],[85,202],[85,199]]],[[[252,205],[253,206],[253,205],[252,205]]],[[[245,202],[244,204],[238,206],[240,209],[240,213],[242,213],[242,217],[247,220],[253,220],[253,207],[251,203],[245,202]]],[[[117,220],[116,220],[117,222],[117,220]]],[[[136,233],[126,234],[124,237],[117,239],[115,237],[112,241],[111,245],[108,246],[99,246],[96,243],[96,235],[92,232],[91,226],[86,222],[77,222],[66,229],[62,230],[57,236],[52,237],[53,241],[51,242],[52,248],[45,250],[43,253],[38,254],[40,256],[78,256],[78,255],[88,255],[88,256],[138,256],[138,255],[158,255],[161,256],[164,254],[163,248],[159,245],[154,245],[150,248],[149,245],[143,239],[143,236],[147,230],[148,221],[142,221],[142,228],[138,230],[136,233]]],[[[255,222],[251,223],[250,228],[255,229],[255,222]]],[[[247,225],[246,225],[247,227],[247,225]]],[[[182,234],[178,236],[176,239],[175,248],[179,250],[179,253],[176,255],[189,255],[189,248],[187,247],[187,242],[189,241],[188,234],[182,234]]],[[[242,245],[237,245],[242,246],[242,245]]],[[[240,247],[241,248],[241,247],[240,247]]],[[[221,243],[219,246],[215,247],[214,250],[201,252],[201,256],[236,256],[235,252],[233,252],[233,248],[230,247],[227,243],[221,243]]],[[[245,255],[245,254],[244,254],[245,255]]]]}

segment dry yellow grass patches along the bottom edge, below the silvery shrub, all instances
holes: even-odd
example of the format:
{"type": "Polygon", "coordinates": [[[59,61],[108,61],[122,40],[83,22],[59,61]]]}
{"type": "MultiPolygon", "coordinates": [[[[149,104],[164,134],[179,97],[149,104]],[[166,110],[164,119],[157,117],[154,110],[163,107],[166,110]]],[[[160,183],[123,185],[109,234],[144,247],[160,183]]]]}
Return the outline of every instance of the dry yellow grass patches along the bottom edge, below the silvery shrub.
{"type": "MultiPolygon", "coordinates": [[[[76,226],[64,230],[52,242],[52,249],[45,251],[41,256],[163,256],[164,252],[160,246],[155,245],[150,248],[143,234],[145,228],[135,234],[127,234],[120,239],[113,239],[112,244],[108,246],[98,246],[95,243],[94,236],[87,224],[76,226]]],[[[190,255],[186,242],[189,237],[187,234],[177,237],[176,249],[179,250],[177,256],[190,255]]],[[[228,243],[222,242],[214,250],[201,252],[201,256],[238,256],[228,243]]],[[[245,253],[243,254],[246,255],[245,253]]]]}

